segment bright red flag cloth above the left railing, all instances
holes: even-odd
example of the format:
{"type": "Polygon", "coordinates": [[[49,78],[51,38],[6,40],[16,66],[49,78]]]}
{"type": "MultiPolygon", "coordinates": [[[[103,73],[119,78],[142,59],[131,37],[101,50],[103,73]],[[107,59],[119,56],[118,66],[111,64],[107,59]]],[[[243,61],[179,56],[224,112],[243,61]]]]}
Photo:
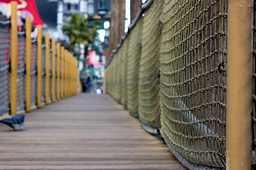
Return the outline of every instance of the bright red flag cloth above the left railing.
{"type": "Polygon", "coordinates": [[[33,25],[43,26],[43,21],[39,16],[34,0],[0,0],[0,2],[6,3],[6,4],[11,3],[11,1],[17,2],[18,11],[21,11],[25,16],[30,16],[30,15],[33,16],[33,25]]]}

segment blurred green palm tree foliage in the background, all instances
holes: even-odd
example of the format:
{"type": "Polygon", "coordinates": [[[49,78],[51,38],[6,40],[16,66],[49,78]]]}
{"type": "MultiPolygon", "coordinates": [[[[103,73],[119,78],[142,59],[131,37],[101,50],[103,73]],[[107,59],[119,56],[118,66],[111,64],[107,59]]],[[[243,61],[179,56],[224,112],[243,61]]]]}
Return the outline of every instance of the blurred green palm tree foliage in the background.
{"type": "Polygon", "coordinates": [[[70,38],[70,50],[74,51],[75,42],[90,42],[97,35],[97,22],[94,28],[88,28],[88,20],[84,16],[75,13],[70,14],[70,20],[65,20],[66,24],[62,27],[63,33],[70,38]]]}

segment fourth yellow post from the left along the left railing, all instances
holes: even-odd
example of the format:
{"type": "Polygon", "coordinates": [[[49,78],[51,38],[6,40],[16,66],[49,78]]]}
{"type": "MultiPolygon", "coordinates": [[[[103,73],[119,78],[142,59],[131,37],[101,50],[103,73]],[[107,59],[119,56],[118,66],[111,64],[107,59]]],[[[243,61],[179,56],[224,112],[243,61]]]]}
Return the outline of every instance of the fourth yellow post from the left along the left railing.
{"type": "Polygon", "coordinates": [[[50,50],[50,39],[49,39],[49,34],[46,33],[46,86],[45,86],[45,93],[46,93],[46,104],[50,103],[50,67],[49,67],[49,50],[50,50]]]}

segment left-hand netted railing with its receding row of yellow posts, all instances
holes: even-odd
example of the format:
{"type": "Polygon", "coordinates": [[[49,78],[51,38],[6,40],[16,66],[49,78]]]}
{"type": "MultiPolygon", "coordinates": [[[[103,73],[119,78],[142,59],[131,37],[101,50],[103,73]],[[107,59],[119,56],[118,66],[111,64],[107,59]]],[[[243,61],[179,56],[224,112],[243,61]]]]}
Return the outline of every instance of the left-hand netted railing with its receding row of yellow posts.
{"type": "MultiPolygon", "coordinates": [[[[16,6],[16,3],[12,2],[11,6],[16,6]]],[[[15,12],[16,11],[14,11],[14,13],[15,12]]],[[[15,22],[15,15],[11,17],[13,17],[13,21],[15,22]]],[[[26,24],[28,24],[28,26],[31,26],[30,22],[30,19],[27,21],[26,18],[26,24]]],[[[40,108],[44,104],[54,102],[57,99],[57,95],[60,96],[60,93],[63,93],[63,91],[68,91],[68,93],[61,98],[74,95],[76,94],[76,86],[79,82],[77,81],[79,78],[77,75],[79,74],[79,72],[77,72],[77,60],[70,52],[67,51],[65,53],[62,52],[61,55],[58,54],[58,64],[51,64],[52,54],[50,40],[46,42],[46,45],[42,45],[42,31],[39,31],[42,30],[41,26],[38,26],[38,39],[33,40],[31,40],[31,33],[28,31],[30,28],[27,29],[26,33],[11,33],[12,26],[9,21],[0,21],[0,119],[6,118],[6,115],[29,112],[31,108],[40,108]],[[17,38],[17,42],[13,42],[12,45],[11,37],[13,39],[15,37],[17,38]],[[38,49],[41,51],[40,53],[38,53],[38,49]],[[11,52],[11,50],[14,50],[14,52],[11,52]],[[11,57],[11,54],[16,55],[11,57]],[[46,57],[48,57],[47,61],[46,57]],[[28,64],[27,61],[29,61],[28,64]],[[12,68],[10,67],[11,62],[13,62],[12,68]],[[46,66],[48,67],[47,75],[46,66]],[[51,77],[52,70],[55,72],[53,77],[51,77]],[[10,73],[14,72],[16,72],[16,78],[14,78],[16,81],[11,81],[10,79],[14,74],[10,73]],[[63,76],[63,72],[69,72],[68,76],[63,76]],[[60,76],[57,77],[57,73],[60,73],[60,76]],[[38,79],[38,77],[40,77],[40,79],[38,79]],[[52,79],[55,80],[53,84],[51,84],[52,79]],[[57,81],[58,86],[60,86],[60,82],[63,81],[68,81],[69,84],[60,88],[61,91],[58,90],[57,93],[57,81]],[[12,84],[16,84],[16,89],[11,90],[11,82],[12,84]],[[48,91],[46,91],[46,84],[48,84],[48,91]],[[14,91],[15,99],[10,98],[11,91],[14,91]],[[51,91],[55,92],[51,94],[51,91]],[[46,103],[46,96],[48,96],[49,99],[48,103],[46,103]],[[55,100],[53,100],[53,98],[55,100]],[[13,108],[11,112],[11,106],[16,106],[14,107],[16,110],[13,108]]],[[[48,33],[46,33],[46,37],[48,37],[48,33]]],[[[60,52],[60,48],[64,50],[64,47],[60,47],[60,43],[56,43],[54,40],[52,41],[53,47],[58,47],[58,49],[56,49],[58,52],[60,52]]],[[[57,59],[57,54],[54,53],[53,57],[57,59]]]]}

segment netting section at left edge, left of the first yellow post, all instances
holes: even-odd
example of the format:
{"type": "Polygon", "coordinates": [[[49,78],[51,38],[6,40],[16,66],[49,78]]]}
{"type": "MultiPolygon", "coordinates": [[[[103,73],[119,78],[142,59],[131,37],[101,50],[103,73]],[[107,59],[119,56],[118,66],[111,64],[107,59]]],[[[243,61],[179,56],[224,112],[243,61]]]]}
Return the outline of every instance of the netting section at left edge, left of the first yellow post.
{"type": "Polygon", "coordinates": [[[0,115],[9,111],[10,22],[0,22],[0,115]]]}

